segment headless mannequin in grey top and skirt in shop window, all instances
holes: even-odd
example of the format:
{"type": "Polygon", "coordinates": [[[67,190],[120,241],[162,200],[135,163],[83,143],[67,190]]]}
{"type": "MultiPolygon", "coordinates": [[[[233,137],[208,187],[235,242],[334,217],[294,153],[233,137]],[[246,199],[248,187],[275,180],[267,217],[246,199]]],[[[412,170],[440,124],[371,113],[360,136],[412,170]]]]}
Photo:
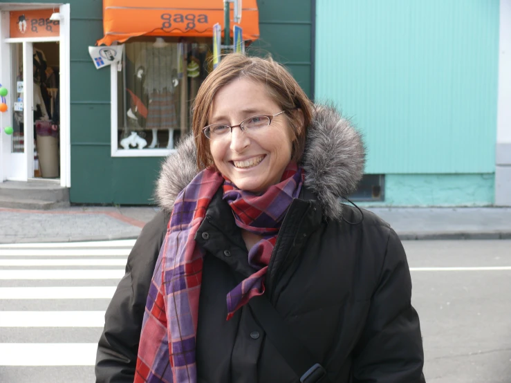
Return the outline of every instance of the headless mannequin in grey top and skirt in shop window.
{"type": "MultiPolygon", "coordinates": [[[[167,129],[169,140],[167,149],[174,149],[174,129],[178,128],[176,105],[174,102],[174,87],[176,82],[170,75],[171,68],[176,65],[175,47],[165,42],[162,37],[138,57],[136,76],[141,80],[145,76],[144,88],[149,94],[147,108],[147,129],[152,131],[149,149],[154,149],[158,143],[158,130],[167,129]]],[[[133,114],[133,111],[131,111],[133,114]]]]}

